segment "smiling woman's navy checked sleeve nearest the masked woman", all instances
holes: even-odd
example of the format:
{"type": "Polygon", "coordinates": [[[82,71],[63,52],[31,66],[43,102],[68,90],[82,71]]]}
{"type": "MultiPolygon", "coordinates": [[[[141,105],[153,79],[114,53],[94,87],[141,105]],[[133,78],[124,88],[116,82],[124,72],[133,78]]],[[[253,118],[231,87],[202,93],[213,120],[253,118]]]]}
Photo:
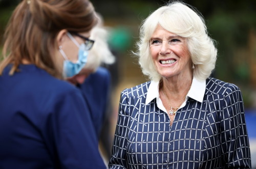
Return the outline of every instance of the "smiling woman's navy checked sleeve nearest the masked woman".
{"type": "Polygon", "coordinates": [[[116,131],[114,136],[114,142],[112,146],[112,155],[109,162],[109,168],[127,168],[126,163],[126,145],[127,145],[127,133],[129,132],[130,121],[130,104],[128,98],[121,93],[118,119],[116,125],[116,131]]]}

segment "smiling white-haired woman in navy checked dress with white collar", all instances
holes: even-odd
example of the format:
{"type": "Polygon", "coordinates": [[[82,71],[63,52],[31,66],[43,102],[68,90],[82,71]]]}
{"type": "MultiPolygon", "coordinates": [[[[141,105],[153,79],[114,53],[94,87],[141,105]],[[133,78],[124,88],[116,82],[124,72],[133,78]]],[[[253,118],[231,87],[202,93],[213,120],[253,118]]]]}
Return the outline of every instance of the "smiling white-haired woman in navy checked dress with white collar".
{"type": "Polygon", "coordinates": [[[121,93],[110,168],[250,168],[241,91],[209,77],[217,49],[203,17],[173,2],[142,23],[151,81],[121,93]]]}

